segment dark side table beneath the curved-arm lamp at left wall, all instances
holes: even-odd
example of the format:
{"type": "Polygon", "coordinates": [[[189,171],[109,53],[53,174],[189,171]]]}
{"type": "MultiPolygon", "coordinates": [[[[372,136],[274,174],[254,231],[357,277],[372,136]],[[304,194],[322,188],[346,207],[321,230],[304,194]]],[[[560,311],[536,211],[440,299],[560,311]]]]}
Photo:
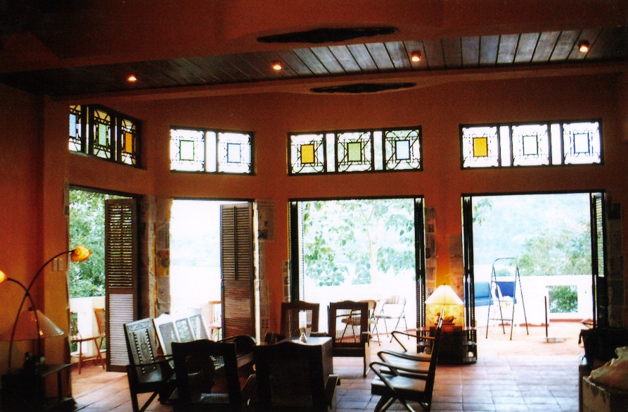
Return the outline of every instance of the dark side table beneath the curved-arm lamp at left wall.
{"type": "Polygon", "coordinates": [[[63,397],[61,379],[63,370],[70,366],[70,363],[46,365],[34,372],[17,370],[2,375],[0,411],[72,411],[75,401],[71,397],[63,397]],[[46,379],[49,377],[56,377],[56,397],[46,397],[46,379]]]}

